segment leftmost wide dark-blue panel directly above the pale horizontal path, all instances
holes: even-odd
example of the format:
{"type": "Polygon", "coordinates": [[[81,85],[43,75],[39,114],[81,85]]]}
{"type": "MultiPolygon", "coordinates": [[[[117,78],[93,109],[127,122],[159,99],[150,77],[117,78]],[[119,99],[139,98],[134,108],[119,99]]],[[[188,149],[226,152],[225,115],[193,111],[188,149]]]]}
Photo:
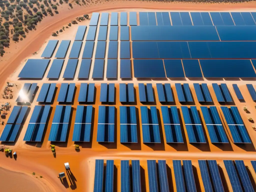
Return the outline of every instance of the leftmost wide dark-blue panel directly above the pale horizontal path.
{"type": "Polygon", "coordinates": [[[140,59],[133,60],[135,78],[165,78],[162,60],[140,59]],[[146,69],[146,70],[145,70],[146,69]]]}

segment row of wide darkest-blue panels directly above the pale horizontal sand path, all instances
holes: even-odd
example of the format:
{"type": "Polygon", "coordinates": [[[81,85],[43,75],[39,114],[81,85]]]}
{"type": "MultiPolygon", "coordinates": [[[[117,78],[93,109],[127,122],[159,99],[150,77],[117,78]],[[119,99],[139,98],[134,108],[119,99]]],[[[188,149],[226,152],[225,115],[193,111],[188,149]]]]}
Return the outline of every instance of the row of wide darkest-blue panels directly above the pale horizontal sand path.
{"type": "Polygon", "coordinates": [[[255,78],[251,61],[255,67],[253,59],[134,59],[133,70],[135,78],[255,78]]]}

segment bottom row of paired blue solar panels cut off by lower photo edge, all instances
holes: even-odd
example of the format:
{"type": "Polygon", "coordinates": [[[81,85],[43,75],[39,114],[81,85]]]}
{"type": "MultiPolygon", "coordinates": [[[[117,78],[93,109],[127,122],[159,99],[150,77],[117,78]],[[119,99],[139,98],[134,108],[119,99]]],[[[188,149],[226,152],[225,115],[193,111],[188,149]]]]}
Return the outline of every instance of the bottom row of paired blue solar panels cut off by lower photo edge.
{"type": "MultiPolygon", "coordinates": [[[[233,191],[254,191],[247,168],[242,160],[223,160],[233,191]]],[[[251,161],[254,171],[256,161],[251,161]]],[[[202,182],[205,191],[224,192],[219,165],[216,160],[198,160],[202,182]]],[[[169,192],[171,175],[167,173],[165,160],[147,160],[148,185],[151,192],[169,192]],[[158,165],[158,168],[157,168],[158,165]],[[158,172],[158,173],[157,173],[158,172]],[[159,182],[159,184],[158,184],[159,182]],[[160,187],[159,187],[160,186],[160,187]]],[[[140,161],[121,160],[121,191],[141,191],[140,161]],[[132,181],[130,181],[130,168],[132,168],[132,181]],[[131,188],[132,185],[132,188],[131,188]]],[[[191,160],[173,160],[174,178],[177,191],[197,191],[194,170],[191,160]],[[185,177],[185,178],[184,178],[185,177]]],[[[94,192],[103,191],[104,160],[95,160],[94,192]]],[[[197,173],[196,173],[197,175],[197,173]]],[[[113,191],[114,160],[106,160],[105,191],[113,191]]]]}

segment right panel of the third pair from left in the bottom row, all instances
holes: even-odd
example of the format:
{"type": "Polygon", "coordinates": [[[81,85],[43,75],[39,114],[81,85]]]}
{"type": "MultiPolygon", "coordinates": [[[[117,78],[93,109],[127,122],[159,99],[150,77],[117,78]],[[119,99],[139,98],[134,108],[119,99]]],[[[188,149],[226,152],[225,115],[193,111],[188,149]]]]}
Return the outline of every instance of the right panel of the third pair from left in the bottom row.
{"type": "Polygon", "coordinates": [[[158,160],[159,183],[161,192],[169,192],[166,161],[158,160]]]}

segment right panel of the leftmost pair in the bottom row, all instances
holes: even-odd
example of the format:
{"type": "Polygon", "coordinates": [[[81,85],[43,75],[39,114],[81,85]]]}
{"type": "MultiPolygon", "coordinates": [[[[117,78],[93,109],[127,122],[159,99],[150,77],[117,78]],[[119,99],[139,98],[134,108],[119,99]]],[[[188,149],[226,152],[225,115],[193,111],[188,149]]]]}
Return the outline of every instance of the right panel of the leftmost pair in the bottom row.
{"type": "Polygon", "coordinates": [[[105,192],[113,192],[114,160],[107,160],[105,192]]]}

